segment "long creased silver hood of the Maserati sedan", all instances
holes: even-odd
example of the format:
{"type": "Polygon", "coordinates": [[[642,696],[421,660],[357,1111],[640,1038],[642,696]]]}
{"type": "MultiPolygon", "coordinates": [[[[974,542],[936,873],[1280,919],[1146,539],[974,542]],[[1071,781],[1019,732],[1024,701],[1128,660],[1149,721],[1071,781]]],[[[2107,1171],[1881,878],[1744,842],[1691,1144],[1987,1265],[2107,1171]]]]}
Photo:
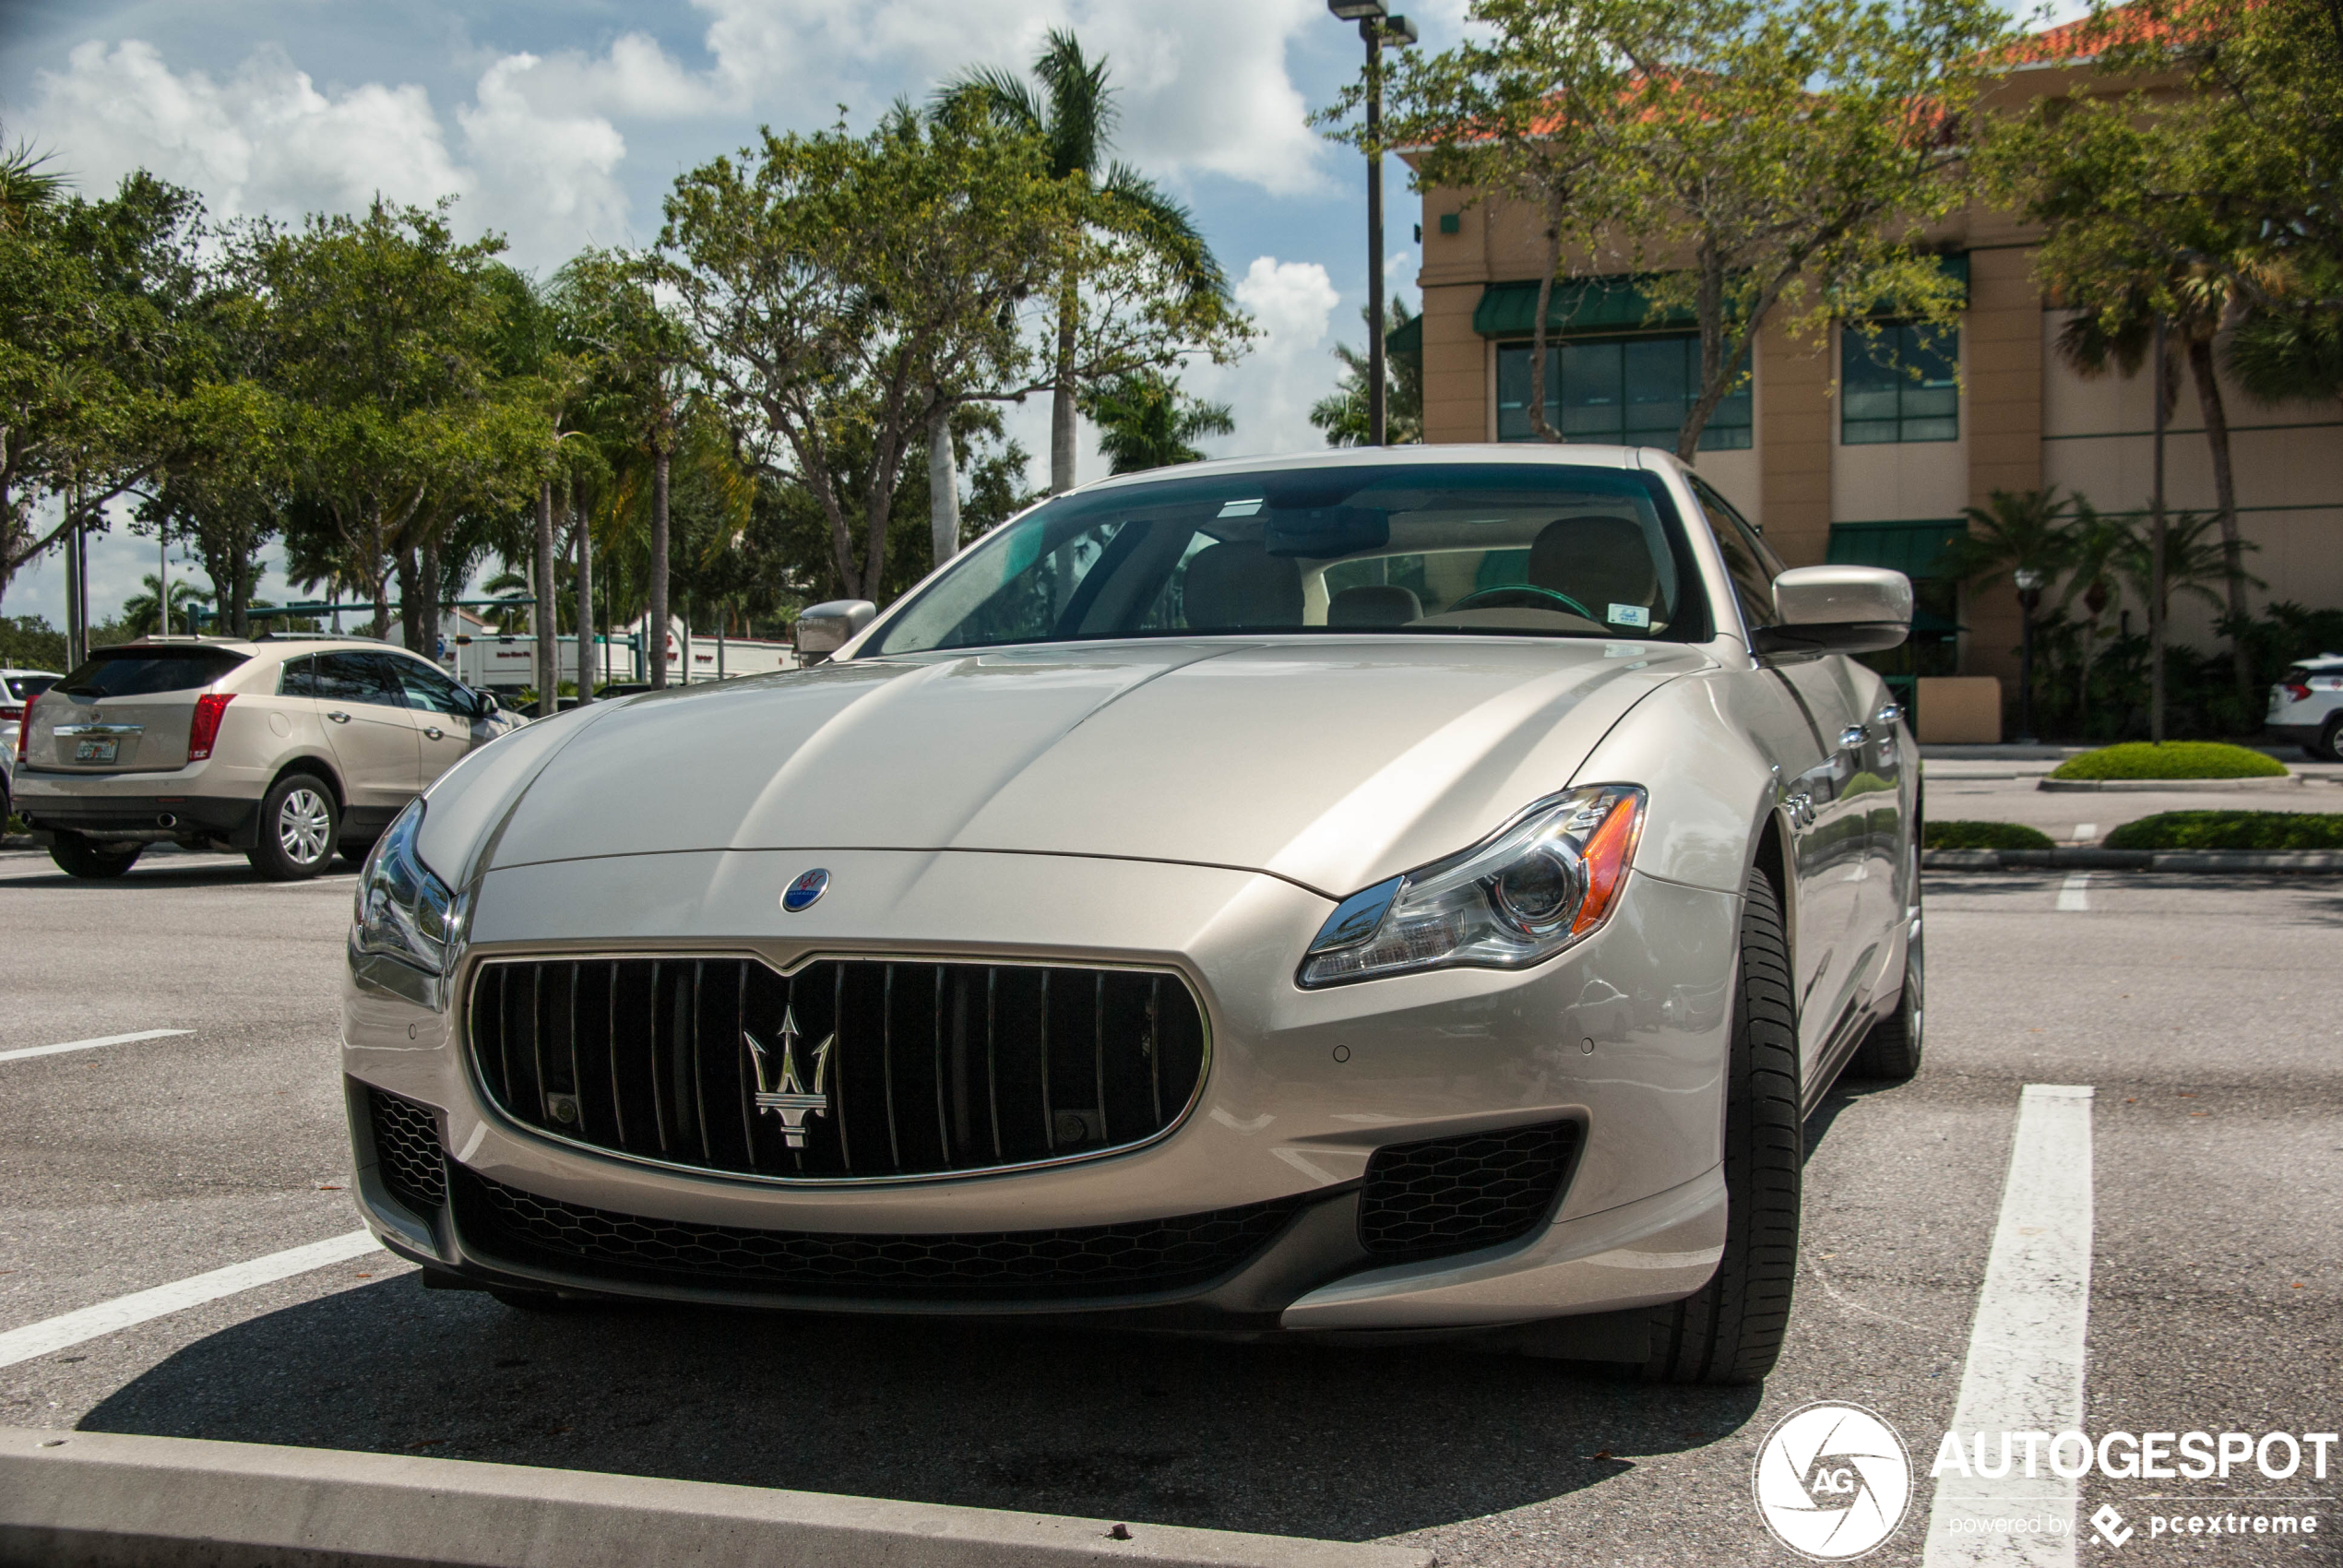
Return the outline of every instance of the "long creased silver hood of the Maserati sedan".
{"type": "Polygon", "coordinates": [[[858,659],[534,724],[431,792],[422,851],[459,877],[715,848],[1108,855],[1345,895],[1570,785],[1703,663],[1495,638],[858,659]]]}

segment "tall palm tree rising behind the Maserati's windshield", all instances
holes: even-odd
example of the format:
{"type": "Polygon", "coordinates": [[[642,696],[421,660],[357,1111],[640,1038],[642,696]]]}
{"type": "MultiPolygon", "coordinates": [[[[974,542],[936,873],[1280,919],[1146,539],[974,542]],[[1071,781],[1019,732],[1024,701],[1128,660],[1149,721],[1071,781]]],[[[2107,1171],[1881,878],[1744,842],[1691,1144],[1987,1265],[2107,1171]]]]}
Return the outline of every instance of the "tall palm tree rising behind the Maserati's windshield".
{"type": "MultiPolygon", "coordinates": [[[[1033,61],[1038,89],[993,68],[975,68],[949,82],[942,101],[975,101],[996,122],[1038,136],[1050,148],[1050,178],[1075,180],[1089,197],[1094,223],[1108,232],[1162,251],[1193,293],[1228,293],[1228,277],[1186,206],[1167,197],[1129,164],[1111,162],[1115,94],[1106,84],[1106,59],[1092,61],[1082,42],[1050,28],[1033,61]]],[[[1075,445],[1075,333],[1082,312],[1082,279],[1068,270],[1057,295],[1057,384],[1050,401],[1050,490],[1073,490],[1075,445]]]]}

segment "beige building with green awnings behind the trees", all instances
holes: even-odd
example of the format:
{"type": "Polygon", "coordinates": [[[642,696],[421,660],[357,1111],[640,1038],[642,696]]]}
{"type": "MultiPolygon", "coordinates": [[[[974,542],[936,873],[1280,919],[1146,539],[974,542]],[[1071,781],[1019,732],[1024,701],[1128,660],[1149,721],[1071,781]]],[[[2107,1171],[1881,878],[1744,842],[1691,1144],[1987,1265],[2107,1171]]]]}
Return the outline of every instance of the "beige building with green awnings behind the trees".
{"type": "MultiPolygon", "coordinates": [[[[2020,70],[2027,96],[2064,91],[2074,70],[2020,70]]],[[[2102,511],[2146,509],[2151,375],[2085,380],[2057,354],[2069,312],[2034,279],[2034,234],[1973,209],[1933,237],[1968,309],[1952,342],[1910,326],[1872,340],[1832,326],[1828,340],[1764,330],[1753,373],[1708,424],[1696,466],[1792,565],[1893,565],[1914,577],[1914,673],[2013,677],[2017,598],[2008,586],[1961,595],[1938,574],[1966,506],[1994,490],[2055,485],[2102,511]],[[1919,377],[1910,368],[1919,368],[1919,377]]],[[[1530,330],[1542,270],[1528,206],[1422,197],[1420,326],[1394,352],[1422,352],[1425,441],[1530,441],[1530,330]]],[[[1652,321],[1631,277],[1565,277],[1549,307],[1549,422],[1574,441],[1673,448],[1699,342],[1692,321],[1652,321]]],[[[2240,525],[2259,551],[2254,600],[2343,605],[2343,405],[2268,405],[2221,387],[2228,405],[2240,525]]],[[[2167,431],[2167,502],[2212,511],[2212,462],[2186,382],[2167,431]]],[[[2144,607],[2130,607],[2134,623],[2144,607]]],[[[2209,614],[2174,605],[2174,635],[2212,647],[2209,614]]],[[[2008,682],[2013,687],[2015,682],[2008,682]]]]}

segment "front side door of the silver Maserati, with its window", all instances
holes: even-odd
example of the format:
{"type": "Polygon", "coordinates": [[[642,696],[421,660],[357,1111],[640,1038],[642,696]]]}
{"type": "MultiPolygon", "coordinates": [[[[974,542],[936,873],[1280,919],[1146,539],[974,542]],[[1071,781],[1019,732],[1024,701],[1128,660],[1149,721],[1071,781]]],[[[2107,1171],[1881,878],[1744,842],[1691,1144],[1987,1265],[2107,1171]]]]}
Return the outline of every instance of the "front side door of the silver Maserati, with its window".
{"type": "MultiPolygon", "coordinates": [[[[1724,497],[1694,480],[1701,511],[1748,626],[1771,626],[1781,558],[1724,497]]],[[[1849,799],[1853,776],[1844,731],[1849,701],[1823,656],[1757,659],[1736,703],[1743,727],[1774,764],[1776,802],[1790,820],[1790,945],[1797,968],[1799,1062],[1821,1055],[1846,1024],[1860,982],[1860,884],[1867,863],[1865,804],[1849,799]]]]}

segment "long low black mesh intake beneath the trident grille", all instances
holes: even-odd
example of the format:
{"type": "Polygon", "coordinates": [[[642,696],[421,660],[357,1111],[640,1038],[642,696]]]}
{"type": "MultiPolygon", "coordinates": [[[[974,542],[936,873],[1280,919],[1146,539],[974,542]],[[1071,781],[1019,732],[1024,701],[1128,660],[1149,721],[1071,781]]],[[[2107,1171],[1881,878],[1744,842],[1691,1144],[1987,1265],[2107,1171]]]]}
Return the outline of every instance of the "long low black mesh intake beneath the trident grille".
{"type": "Polygon", "coordinates": [[[1125,1226],[954,1235],[743,1230],[586,1209],[455,1167],[457,1221],[483,1256],[609,1280],[750,1284],[855,1298],[1136,1296],[1216,1280],[1261,1252],[1307,1198],[1125,1226]]]}

